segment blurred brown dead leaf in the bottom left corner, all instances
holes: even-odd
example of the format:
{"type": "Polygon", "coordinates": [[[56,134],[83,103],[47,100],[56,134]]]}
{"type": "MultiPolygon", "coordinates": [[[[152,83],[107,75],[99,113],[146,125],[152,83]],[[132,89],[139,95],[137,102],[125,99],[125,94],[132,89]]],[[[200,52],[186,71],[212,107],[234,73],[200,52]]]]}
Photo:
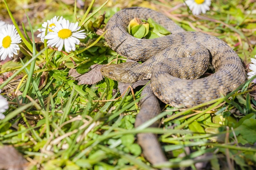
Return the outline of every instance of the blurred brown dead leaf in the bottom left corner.
{"type": "Polygon", "coordinates": [[[28,162],[13,146],[0,146],[0,169],[23,170],[28,162]]]}

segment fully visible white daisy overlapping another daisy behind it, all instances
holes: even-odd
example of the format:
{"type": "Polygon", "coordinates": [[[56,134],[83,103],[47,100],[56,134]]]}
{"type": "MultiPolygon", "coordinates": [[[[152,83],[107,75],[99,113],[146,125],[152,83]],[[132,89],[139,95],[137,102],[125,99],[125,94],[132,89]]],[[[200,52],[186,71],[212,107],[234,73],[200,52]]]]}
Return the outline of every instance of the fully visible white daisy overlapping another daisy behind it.
{"type": "Polygon", "coordinates": [[[84,30],[78,31],[81,27],[78,27],[78,22],[69,23],[69,20],[62,20],[61,22],[56,22],[56,26],[52,28],[53,32],[49,32],[45,36],[47,39],[47,46],[55,46],[58,51],[61,51],[63,45],[66,52],[75,51],[76,44],[80,43],[79,39],[84,39],[86,37],[84,30]]]}

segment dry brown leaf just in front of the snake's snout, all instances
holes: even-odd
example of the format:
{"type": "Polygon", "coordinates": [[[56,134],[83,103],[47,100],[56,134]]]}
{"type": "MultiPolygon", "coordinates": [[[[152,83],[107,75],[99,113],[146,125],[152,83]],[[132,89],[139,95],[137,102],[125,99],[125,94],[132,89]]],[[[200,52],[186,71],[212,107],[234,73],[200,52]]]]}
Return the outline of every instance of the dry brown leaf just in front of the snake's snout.
{"type": "Polygon", "coordinates": [[[95,84],[103,79],[101,74],[101,68],[104,67],[105,64],[98,65],[94,64],[90,67],[90,71],[84,74],[79,74],[76,69],[69,70],[69,77],[73,77],[75,80],[78,80],[78,85],[82,84],[95,84]]]}

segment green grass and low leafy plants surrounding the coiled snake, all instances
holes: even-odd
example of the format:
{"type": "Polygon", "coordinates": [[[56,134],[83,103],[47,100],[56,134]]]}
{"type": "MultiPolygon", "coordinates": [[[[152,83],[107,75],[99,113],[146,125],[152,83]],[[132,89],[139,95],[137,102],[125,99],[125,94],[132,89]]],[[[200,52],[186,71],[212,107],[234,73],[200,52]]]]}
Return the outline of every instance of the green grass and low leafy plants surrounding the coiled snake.
{"type": "MultiPolygon", "coordinates": [[[[184,6],[172,11],[183,2],[181,0],[131,0],[129,3],[110,0],[105,5],[104,2],[88,3],[89,10],[84,11],[54,1],[38,1],[39,5],[45,3],[46,8],[43,11],[27,9],[30,22],[18,17],[26,16],[24,10],[11,6],[18,1],[7,1],[10,9],[0,2],[4,11],[1,19],[9,18],[9,13],[12,21],[25,23],[27,32],[35,32],[52,15],[63,15],[70,21],[78,18],[87,32],[82,45],[69,55],[22,37],[21,59],[0,65],[0,76],[12,74],[9,78],[3,77],[4,82],[0,84],[2,95],[9,102],[9,110],[4,113],[6,118],[0,120],[0,144],[13,145],[30,162],[29,169],[149,169],[152,165],[141,154],[136,134],[153,132],[159,135],[169,159],[168,163],[155,165],[155,168],[197,169],[197,163],[204,161],[207,168],[216,170],[255,169],[256,101],[251,80],[226,97],[190,109],[165,106],[160,115],[134,128],[140,88],[135,90],[134,96],[126,93],[120,97],[119,91],[113,93],[117,89],[114,80],[77,85],[78,81],[68,77],[70,68],[83,74],[93,64],[107,64],[116,58],[117,54],[104,41],[104,34],[96,34],[94,28],[104,28],[100,22],[104,11],[107,23],[116,11],[130,6],[161,8],[161,12],[185,30],[215,35],[237,52],[248,69],[250,58],[256,55],[255,3],[213,1],[211,10],[197,18],[184,6]],[[32,18],[31,12],[41,12],[45,18],[32,18]],[[206,105],[207,108],[199,109],[206,105]],[[148,127],[158,119],[161,119],[161,127],[148,127]]],[[[31,0],[28,4],[33,3],[31,0]]]]}

